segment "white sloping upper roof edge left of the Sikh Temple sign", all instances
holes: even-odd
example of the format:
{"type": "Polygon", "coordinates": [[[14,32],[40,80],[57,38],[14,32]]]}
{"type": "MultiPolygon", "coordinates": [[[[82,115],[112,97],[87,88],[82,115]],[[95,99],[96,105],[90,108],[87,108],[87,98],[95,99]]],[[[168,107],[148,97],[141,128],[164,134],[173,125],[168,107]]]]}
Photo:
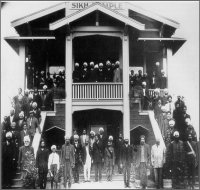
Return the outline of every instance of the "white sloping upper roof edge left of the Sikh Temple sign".
{"type": "Polygon", "coordinates": [[[25,17],[16,19],[16,20],[11,22],[11,26],[12,27],[16,27],[16,26],[25,24],[25,23],[30,22],[32,20],[41,18],[41,17],[46,16],[48,14],[51,14],[51,13],[54,13],[54,12],[59,11],[61,9],[64,9],[65,7],[66,7],[66,3],[65,2],[53,5],[51,7],[42,9],[42,10],[37,11],[35,13],[29,14],[29,15],[27,15],[25,17]]]}

